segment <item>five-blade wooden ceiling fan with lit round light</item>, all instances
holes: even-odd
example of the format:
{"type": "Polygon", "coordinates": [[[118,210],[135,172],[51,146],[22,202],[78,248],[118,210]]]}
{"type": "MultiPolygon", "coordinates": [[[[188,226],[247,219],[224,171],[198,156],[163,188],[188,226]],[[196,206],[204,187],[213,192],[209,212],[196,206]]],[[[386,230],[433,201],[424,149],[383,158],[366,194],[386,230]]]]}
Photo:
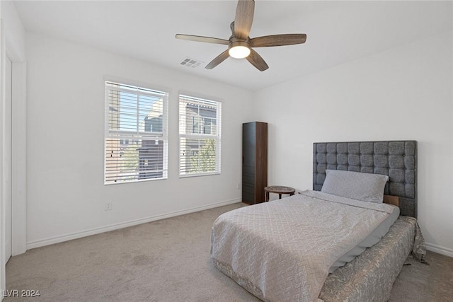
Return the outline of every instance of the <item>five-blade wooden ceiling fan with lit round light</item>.
{"type": "Polygon", "coordinates": [[[206,69],[213,69],[215,66],[224,62],[228,57],[236,59],[246,58],[253,66],[260,71],[265,71],[269,68],[264,59],[253,50],[252,47],[270,47],[302,44],[306,40],[305,34],[285,34],[285,35],[265,35],[263,37],[249,37],[252,22],[253,12],[255,11],[254,0],[239,0],[236,7],[236,17],[231,23],[231,37],[229,40],[219,39],[217,37],[203,37],[200,35],[176,35],[177,39],[190,40],[196,42],[207,42],[214,44],[228,45],[228,49],[214,58],[210,64],[207,64],[206,69]]]}

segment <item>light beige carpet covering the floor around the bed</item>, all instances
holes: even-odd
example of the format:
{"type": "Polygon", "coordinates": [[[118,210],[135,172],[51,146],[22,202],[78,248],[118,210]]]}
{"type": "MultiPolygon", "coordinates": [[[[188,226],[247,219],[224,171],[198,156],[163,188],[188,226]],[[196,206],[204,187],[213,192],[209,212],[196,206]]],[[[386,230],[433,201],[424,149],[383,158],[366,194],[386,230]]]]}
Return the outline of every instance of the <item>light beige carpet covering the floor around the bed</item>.
{"type": "MultiPolygon", "coordinates": [[[[6,287],[40,290],[17,301],[259,301],[215,269],[210,233],[231,204],[28,250],[6,265],[6,287]]],[[[452,301],[453,258],[403,267],[391,301],[452,301]]]]}

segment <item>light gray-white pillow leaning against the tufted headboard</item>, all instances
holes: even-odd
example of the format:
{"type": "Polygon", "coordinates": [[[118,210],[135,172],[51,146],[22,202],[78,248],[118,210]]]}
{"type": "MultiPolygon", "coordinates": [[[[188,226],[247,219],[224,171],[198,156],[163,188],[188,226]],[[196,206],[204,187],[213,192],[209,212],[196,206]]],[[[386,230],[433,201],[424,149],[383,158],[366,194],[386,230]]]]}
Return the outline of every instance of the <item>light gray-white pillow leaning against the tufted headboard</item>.
{"type": "Polygon", "coordinates": [[[389,176],[343,170],[326,170],[321,192],[382,204],[389,176]]]}

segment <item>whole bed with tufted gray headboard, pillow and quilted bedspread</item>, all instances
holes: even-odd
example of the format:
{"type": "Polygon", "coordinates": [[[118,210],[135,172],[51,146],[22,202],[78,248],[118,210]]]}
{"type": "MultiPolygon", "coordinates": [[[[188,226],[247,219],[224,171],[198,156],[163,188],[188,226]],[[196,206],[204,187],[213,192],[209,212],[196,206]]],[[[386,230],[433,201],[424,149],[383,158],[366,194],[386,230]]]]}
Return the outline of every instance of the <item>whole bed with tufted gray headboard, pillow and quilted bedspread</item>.
{"type": "Polygon", "coordinates": [[[408,255],[425,255],[415,219],[416,141],[315,143],[313,163],[313,190],[219,216],[214,265],[263,301],[387,301],[408,255]],[[344,175],[353,178],[338,187],[344,175]],[[363,199],[341,195],[364,175],[373,187],[349,188],[363,199]],[[372,190],[398,197],[399,208],[376,202],[372,190]],[[348,255],[392,215],[369,248],[348,255]],[[333,267],[343,256],[350,259],[333,267]]]}

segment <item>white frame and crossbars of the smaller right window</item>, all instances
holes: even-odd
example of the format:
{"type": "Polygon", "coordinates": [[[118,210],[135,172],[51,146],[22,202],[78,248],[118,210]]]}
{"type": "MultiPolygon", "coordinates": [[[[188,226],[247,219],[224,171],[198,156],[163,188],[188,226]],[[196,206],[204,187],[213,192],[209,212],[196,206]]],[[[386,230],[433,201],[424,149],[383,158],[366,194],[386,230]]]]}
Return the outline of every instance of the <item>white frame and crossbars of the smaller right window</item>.
{"type": "MultiPolygon", "coordinates": [[[[211,96],[199,95],[197,93],[190,93],[187,91],[179,91],[178,93],[178,175],[179,178],[192,178],[198,176],[207,176],[207,175],[220,175],[222,174],[222,100],[218,98],[213,98],[211,96]],[[193,98],[200,101],[214,102],[216,103],[216,134],[205,134],[205,125],[198,124],[197,127],[200,129],[199,134],[181,134],[181,96],[185,98],[193,98]],[[202,172],[202,173],[181,173],[181,138],[185,139],[214,139],[215,140],[215,170],[212,172],[202,172]]],[[[200,117],[200,123],[202,120],[207,119],[208,117],[200,117]]],[[[212,129],[212,118],[209,118],[210,129],[212,129]]],[[[187,129],[187,125],[185,125],[187,129]]]]}

